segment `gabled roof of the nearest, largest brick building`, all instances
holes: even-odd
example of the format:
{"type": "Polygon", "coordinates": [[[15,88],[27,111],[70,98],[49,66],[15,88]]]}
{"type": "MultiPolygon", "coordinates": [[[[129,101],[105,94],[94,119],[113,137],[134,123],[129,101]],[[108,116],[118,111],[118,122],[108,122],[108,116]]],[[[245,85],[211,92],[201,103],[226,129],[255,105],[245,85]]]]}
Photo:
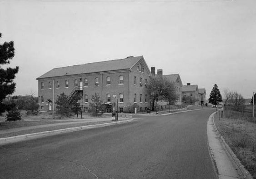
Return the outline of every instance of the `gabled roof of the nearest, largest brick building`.
{"type": "MultiPolygon", "coordinates": [[[[88,74],[88,73],[99,73],[105,71],[113,71],[113,70],[131,70],[131,68],[136,65],[139,60],[143,60],[146,64],[143,56],[137,57],[127,57],[125,59],[119,60],[108,60],[101,61],[95,63],[88,63],[83,65],[74,65],[74,66],[66,66],[60,68],[54,68],[44,75],[41,75],[36,80],[64,75],[79,75],[79,74],[88,74]]],[[[150,70],[147,65],[146,70],[150,73],[150,70]]]]}

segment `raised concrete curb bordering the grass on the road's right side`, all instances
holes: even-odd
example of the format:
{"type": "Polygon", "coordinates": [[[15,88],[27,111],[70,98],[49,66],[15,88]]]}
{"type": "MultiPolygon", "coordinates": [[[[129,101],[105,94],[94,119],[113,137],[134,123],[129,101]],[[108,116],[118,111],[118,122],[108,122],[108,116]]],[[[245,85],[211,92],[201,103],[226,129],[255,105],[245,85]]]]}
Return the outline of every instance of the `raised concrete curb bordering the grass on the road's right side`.
{"type": "MultiPolygon", "coordinates": [[[[214,112],[217,113],[217,112],[214,112]]],[[[244,165],[241,164],[240,160],[236,157],[236,154],[234,154],[233,150],[229,147],[228,144],[226,144],[225,139],[222,137],[222,135],[220,134],[220,132],[218,131],[215,122],[214,122],[214,115],[213,115],[213,125],[216,129],[216,133],[219,137],[219,140],[221,142],[221,144],[223,144],[223,146],[225,147],[226,151],[230,154],[231,158],[233,159],[233,162],[236,164],[236,166],[240,169],[241,173],[243,174],[243,178],[244,179],[253,179],[251,174],[245,169],[244,165]]]]}

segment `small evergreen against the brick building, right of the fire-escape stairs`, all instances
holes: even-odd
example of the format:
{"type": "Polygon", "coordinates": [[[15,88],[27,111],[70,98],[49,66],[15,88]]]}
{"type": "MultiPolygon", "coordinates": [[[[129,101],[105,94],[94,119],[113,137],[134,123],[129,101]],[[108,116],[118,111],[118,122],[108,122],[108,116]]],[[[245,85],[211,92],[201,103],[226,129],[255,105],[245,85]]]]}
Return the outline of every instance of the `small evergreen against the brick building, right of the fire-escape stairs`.
{"type": "Polygon", "coordinates": [[[100,100],[100,96],[97,93],[91,96],[91,102],[88,110],[91,116],[101,116],[103,114],[104,108],[101,103],[102,100],[100,100]]]}

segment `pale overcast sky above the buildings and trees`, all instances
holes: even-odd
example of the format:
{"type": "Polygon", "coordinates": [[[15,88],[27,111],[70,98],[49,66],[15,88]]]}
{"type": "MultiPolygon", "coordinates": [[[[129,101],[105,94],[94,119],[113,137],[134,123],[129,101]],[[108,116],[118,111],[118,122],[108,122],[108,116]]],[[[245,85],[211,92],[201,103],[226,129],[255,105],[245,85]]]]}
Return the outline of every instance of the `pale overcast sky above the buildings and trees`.
{"type": "Polygon", "coordinates": [[[207,99],[214,84],[256,91],[256,0],[1,0],[0,32],[15,44],[15,95],[37,95],[53,68],[140,55],[207,99]]]}

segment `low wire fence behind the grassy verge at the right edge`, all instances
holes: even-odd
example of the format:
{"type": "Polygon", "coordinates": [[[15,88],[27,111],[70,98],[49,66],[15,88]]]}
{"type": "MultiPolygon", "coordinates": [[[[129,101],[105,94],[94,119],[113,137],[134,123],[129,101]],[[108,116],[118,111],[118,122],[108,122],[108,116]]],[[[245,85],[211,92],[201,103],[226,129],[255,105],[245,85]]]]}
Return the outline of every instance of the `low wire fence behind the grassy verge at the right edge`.
{"type": "Polygon", "coordinates": [[[253,105],[224,106],[223,115],[226,118],[245,119],[249,122],[256,122],[256,108],[254,106],[253,118],[253,105]]]}

